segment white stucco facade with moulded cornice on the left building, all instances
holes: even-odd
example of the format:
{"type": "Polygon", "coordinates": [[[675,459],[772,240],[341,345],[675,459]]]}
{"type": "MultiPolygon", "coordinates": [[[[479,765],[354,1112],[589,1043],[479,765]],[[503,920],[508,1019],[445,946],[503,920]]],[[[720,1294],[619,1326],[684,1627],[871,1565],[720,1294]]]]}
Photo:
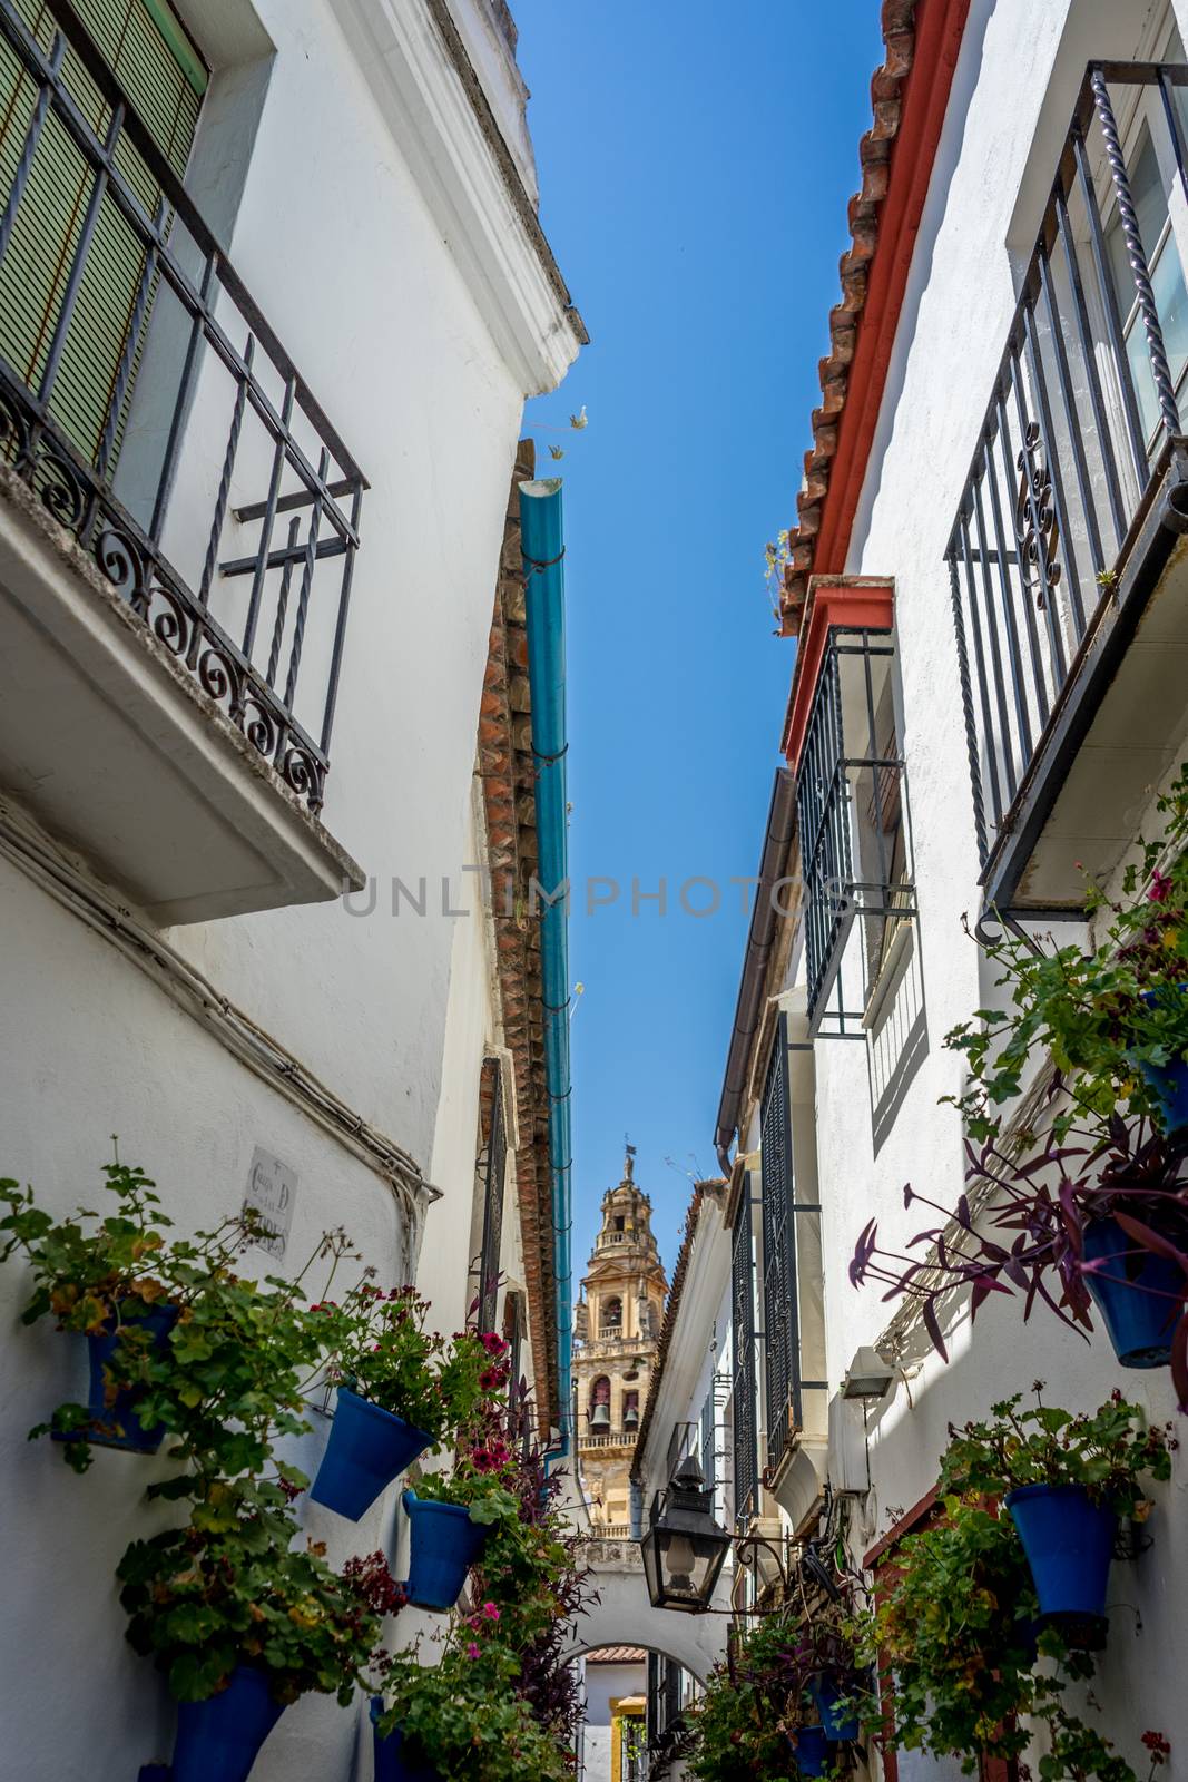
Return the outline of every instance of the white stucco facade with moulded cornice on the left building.
{"type": "MultiPolygon", "coordinates": [[[[262,1149],[296,1183],[280,1267],[344,1226],[385,1285],[417,1279],[449,1333],[476,1287],[479,1082],[502,1044],[490,925],[463,873],[484,848],[474,768],[492,602],[524,401],[563,378],[584,333],[534,221],[524,87],[499,5],[178,11],[212,69],[189,189],[369,483],[321,811],[365,884],[347,902],[322,889],[299,907],[273,898],[253,914],[162,925],[102,857],[77,850],[82,823],[46,823],[0,764],[0,1174],[32,1183],[52,1212],[93,1206],[116,1133],[191,1233],[239,1212],[262,1149]],[[395,880],[411,898],[394,914],[395,880]]],[[[142,385],[134,422],[148,440],[159,417],[142,385]]],[[[203,405],[199,381],[167,535],[182,574],[226,442],[226,415],[216,428],[203,405]]],[[[132,437],[130,479],[135,462],[132,437]]],[[[232,504],[258,495],[258,483],[235,485],[232,504]]],[[[5,506],[0,531],[18,520],[5,506]]],[[[313,604],[310,663],[331,634],[333,613],[313,604]]],[[[144,663],[144,700],[164,711],[159,668],[144,663]]],[[[71,713],[53,716],[68,734],[71,713]]],[[[77,747],[96,752],[102,797],[110,764],[85,736],[77,747]]],[[[253,798],[289,797],[258,763],[251,772],[253,798]]],[[[285,822],[310,829],[305,813],[285,822]]],[[[515,1107],[509,1124],[511,1157],[515,1107]]],[[[522,1290],[511,1167],[500,1265],[502,1294],[522,1290]]],[[[12,1262],[0,1271],[0,1768],[23,1782],[134,1777],[169,1755],[173,1707],[123,1639],[114,1568],[130,1540],[175,1520],[142,1502],[164,1463],[102,1452],[78,1479],[48,1442],[25,1440],[80,1395],[85,1369],[80,1342],[18,1324],[27,1296],[12,1262]]],[[[529,1383],[531,1356],[525,1342],[529,1383]]],[[[294,1456],[310,1474],[328,1429],[313,1424],[294,1456]]],[[[358,1525],[312,1504],[301,1520],[331,1563],[376,1547],[397,1559],[395,1495],[358,1525]]],[[[363,1709],[303,1698],[253,1775],[369,1777],[363,1709]]]]}

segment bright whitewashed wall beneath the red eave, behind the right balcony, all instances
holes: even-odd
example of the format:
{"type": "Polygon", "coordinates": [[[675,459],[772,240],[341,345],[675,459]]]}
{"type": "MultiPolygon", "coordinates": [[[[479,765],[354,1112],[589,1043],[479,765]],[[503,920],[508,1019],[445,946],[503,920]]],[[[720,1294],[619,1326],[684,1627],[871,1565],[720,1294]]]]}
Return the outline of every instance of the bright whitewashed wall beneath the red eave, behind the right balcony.
{"type": "MultiPolygon", "coordinates": [[[[1161,11],[1145,0],[1076,0],[1072,7],[974,0],[971,7],[848,561],[850,572],[896,579],[930,1051],[876,1153],[860,1112],[869,1108],[866,1048],[826,1039],[816,1046],[826,1345],[835,1386],[891,1312],[878,1290],[855,1294],[846,1279],[858,1231],[878,1217],[883,1244],[901,1247],[932,1222],[926,1208],[905,1210],[905,1181],[944,1205],[960,1192],[960,1123],[939,1098],[960,1089],[962,1073],[940,1041],[994,994],[960,925],[964,911],[978,912],[980,891],[944,563],[948,529],[1013,312],[1013,273],[1038,228],[1085,62],[1149,55],[1161,11]]],[[[1177,11],[1183,32],[1184,9],[1177,11]]],[[[867,1524],[857,1531],[864,1540],[883,1533],[892,1511],[935,1483],[951,1418],[981,1415],[1008,1392],[1026,1394],[1037,1377],[1047,1381],[1047,1402],[1092,1408],[1122,1386],[1152,1418],[1174,1413],[1165,1370],[1124,1372],[1104,1335],[1086,1345],[1042,1312],[1024,1326],[1017,1301],[983,1308],[972,1336],[958,1320],[948,1367],[919,1342],[908,1376],[910,1401],[899,1385],[894,1399],[871,1411],[873,1497],[867,1524]]],[[[834,1483],[855,1490],[866,1483],[862,1415],[842,1402],[834,1404],[830,1472],[834,1483]]],[[[1136,1632],[1133,1609],[1111,1616],[1099,1718],[1140,1771],[1143,1729],[1161,1729],[1181,1750],[1188,1741],[1174,1623],[1188,1575],[1186,1493],[1188,1470],[1177,1459],[1176,1481],[1158,1492],[1154,1549],[1135,1566],[1117,1565],[1111,1579],[1111,1602],[1136,1606],[1143,1631],[1136,1632]]],[[[910,1771],[901,1768],[903,1777],[935,1773],[919,1759],[910,1771]]]]}

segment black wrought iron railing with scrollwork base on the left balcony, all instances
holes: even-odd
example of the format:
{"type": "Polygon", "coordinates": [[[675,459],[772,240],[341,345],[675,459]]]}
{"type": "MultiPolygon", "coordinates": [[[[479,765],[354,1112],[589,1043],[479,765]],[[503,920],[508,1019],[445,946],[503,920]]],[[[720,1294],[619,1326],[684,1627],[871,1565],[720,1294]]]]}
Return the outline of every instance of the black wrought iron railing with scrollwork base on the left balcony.
{"type": "Polygon", "coordinates": [[[23,127],[0,187],[0,266],[39,155],[66,153],[77,168],[80,226],[68,237],[48,349],[32,376],[0,358],[0,462],[319,809],[363,474],[75,9],[45,0],[41,16],[34,36],[12,0],[0,0],[0,57],[14,94],[7,127],[23,127]],[[71,71],[100,96],[98,130],[71,93],[71,71]],[[151,214],[146,191],[159,194],[151,214]],[[89,273],[102,278],[96,232],[107,242],[119,235],[137,271],[89,453],[62,422],[55,390],[68,349],[75,360],[87,349],[91,321],[78,298],[89,273]],[[328,560],[330,593],[319,574],[328,560]]]}

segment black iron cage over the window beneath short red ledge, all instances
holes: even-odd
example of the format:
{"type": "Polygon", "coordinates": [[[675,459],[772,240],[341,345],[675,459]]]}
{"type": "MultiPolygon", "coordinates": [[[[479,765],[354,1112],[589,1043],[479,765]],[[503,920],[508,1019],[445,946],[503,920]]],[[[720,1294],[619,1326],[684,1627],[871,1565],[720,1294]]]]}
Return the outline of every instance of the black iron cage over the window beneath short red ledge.
{"type": "Polygon", "coordinates": [[[830,629],[796,770],[814,1034],[828,1021],[826,1032],[864,1037],[864,1010],[891,957],[891,934],[915,918],[892,659],[883,631],[830,629]],[[860,994],[842,973],[855,921],[862,928],[860,994]]]}

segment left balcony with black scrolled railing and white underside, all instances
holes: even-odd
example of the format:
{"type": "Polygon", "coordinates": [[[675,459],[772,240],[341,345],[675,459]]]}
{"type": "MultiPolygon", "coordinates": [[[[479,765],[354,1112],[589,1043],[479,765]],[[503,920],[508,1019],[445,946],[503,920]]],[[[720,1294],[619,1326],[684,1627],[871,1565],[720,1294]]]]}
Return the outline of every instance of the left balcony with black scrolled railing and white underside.
{"type": "Polygon", "coordinates": [[[365,479],[68,0],[0,77],[0,782],[157,921],[331,898],[365,479]]]}

